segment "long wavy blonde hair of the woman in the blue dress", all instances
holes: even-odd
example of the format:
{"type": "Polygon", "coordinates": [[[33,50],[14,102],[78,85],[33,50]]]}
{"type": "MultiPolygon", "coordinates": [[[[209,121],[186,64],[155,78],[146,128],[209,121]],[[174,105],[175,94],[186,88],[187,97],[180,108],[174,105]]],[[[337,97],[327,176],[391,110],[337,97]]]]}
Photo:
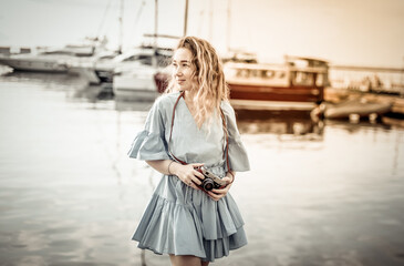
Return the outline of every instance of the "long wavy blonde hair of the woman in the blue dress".
{"type": "MultiPolygon", "coordinates": [[[[197,90],[193,102],[197,111],[195,121],[200,129],[205,121],[211,121],[213,114],[220,115],[220,103],[229,99],[229,89],[221,59],[209,42],[196,37],[184,37],[176,50],[182,48],[188,49],[193,54],[191,63],[196,69],[194,76],[197,78],[196,88],[193,88],[197,90]]],[[[173,72],[166,92],[174,91],[178,89],[173,72]]]]}

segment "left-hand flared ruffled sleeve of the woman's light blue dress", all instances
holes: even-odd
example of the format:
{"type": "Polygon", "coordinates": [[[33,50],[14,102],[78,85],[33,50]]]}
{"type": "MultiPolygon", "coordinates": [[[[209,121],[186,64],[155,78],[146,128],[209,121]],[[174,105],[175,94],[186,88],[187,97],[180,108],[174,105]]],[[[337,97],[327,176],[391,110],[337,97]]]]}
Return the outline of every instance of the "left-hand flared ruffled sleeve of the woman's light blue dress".
{"type": "Polygon", "coordinates": [[[169,158],[162,111],[162,101],[157,99],[148,112],[144,130],[132,142],[127,152],[130,157],[151,161],[169,158]]]}

